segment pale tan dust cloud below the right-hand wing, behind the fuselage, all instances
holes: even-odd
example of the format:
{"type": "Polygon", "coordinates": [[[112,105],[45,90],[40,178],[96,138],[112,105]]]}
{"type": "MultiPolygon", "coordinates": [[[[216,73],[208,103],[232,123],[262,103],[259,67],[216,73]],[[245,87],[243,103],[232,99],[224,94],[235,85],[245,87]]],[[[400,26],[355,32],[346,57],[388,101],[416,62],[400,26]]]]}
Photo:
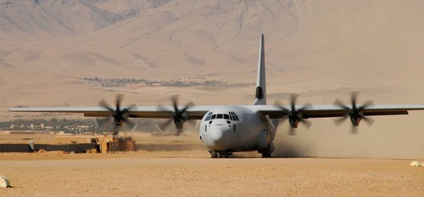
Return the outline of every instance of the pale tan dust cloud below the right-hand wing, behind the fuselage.
{"type": "Polygon", "coordinates": [[[288,136],[281,126],[273,157],[338,157],[411,159],[424,157],[424,132],[418,112],[408,116],[377,117],[373,126],[361,122],[351,133],[349,122],[334,126],[331,119],[314,119],[310,129],[288,136]]]}

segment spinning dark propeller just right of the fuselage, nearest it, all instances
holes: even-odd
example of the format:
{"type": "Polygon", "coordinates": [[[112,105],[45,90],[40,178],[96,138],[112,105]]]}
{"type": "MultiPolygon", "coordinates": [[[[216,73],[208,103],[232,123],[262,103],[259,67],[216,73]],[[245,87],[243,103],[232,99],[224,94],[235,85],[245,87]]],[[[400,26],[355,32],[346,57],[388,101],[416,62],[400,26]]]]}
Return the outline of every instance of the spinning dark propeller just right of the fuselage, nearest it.
{"type": "Polygon", "coordinates": [[[303,111],[310,107],[310,104],[304,105],[300,108],[296,108],[296,100],[298,100],[298,95],[290,95],[290,109],[279,105],[281,111],[283,112],[283,114],[285,114],[285,116],[288,118],[288,122],[290,123],[290,131],[288,132],[288,135],[290,136],[295,135],[295,129],[298,128],[300,123],[304,124],[307,129],[309,129],[312,125],[310,121],[303,119],[303,111]]]}

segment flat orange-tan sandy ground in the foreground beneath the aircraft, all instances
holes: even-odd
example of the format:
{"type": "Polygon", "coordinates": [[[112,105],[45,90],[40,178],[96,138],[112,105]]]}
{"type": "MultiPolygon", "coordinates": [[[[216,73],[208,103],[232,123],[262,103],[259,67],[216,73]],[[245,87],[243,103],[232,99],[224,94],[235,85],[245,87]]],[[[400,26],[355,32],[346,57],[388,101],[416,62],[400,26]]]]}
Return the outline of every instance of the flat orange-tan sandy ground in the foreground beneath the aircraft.
{"type": "MultiPolygon", "coordinates": [[[[135,153],[0,153],[0,196],[422,196],[413,160],[211,159],[195,136],[137,136],[135,153]],[[175,150],[170,150],[175,149],[175,150]]],[[[35,137],[35,140],[37,137],[35,137]]],[[[17,139],[18,140],[18,139],[17,139]]]]}

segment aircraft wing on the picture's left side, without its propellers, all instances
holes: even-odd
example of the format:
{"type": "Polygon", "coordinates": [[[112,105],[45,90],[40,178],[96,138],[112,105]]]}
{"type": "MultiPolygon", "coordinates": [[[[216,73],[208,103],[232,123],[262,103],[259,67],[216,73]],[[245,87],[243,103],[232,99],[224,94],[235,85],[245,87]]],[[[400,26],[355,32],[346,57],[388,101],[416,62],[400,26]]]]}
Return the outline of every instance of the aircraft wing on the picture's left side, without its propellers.
{"type": "MultiPolygon", "coordinates": [[[[204,114],[216,106],[192,106],[187,109],[189,119],[202,119],[204,114]]],[[[126,107],[122,107],[124,109],[126,107]]],[[[45,112],[45,113],[76,113],[84,117],[110,117],[111,112],[105,107],[13,107],[9,112],[45,112]]],[[[170,119],[173,107],[143,106],[130,107],[131,118],[170,119]]]]}

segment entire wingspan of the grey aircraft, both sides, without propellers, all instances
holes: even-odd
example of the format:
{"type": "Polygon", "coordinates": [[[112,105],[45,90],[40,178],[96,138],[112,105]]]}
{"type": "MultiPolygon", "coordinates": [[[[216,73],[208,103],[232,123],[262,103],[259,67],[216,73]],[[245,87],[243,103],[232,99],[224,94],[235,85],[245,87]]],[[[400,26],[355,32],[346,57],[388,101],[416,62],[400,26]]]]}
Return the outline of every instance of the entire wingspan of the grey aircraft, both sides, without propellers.
{"type": "MultiPolygon", "coordinates": [[[[202,119],[206,112],[219,106],[192,106],[187,109],[189,119],[202,119]]],[[[290,109],[290,106],[276,105],[247,105],[245,106],[264,115],[269,115],[271,119],[281,119],[285,113],[281,107],[290,109]]],[[[296,106],[296,109],[302,106],[296,106]]],[[[124,108],[124,107],[122,107],[124,108]]],[[[408,111],[424,110],[424,105],[371,105],[363,109],[365,116],[384,116],[384,115],[403,115],[408,111]]],[[[45,112],[45,113],[79,113],[84,117],[110,117],[111,112],[105,107],[14,107],[9,109],[10,112],[45,112]]],[[[131,118],[153,118],[153,119],[169,119],[172,117],[173,108],[143,106],[131,107],[129,117],[131,118]]],[[[302,112],[304,119],[310,118],[326,118],[326,117],[344,117],[346,109],[336,105],[310,105],[302,112]]]]}

